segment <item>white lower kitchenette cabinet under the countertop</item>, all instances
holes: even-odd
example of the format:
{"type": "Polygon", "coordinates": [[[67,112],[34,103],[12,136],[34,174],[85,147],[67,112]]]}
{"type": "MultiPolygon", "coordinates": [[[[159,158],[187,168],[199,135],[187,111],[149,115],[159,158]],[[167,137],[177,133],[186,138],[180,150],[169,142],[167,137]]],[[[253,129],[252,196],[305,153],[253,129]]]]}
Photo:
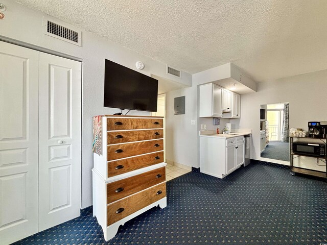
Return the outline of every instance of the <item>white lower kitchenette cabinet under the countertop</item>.
{"type": "Polygon", "coordinates": [[[244,163],[244,136],[218,138],[200,136],[201,173],[224,178],[244,163]]]}

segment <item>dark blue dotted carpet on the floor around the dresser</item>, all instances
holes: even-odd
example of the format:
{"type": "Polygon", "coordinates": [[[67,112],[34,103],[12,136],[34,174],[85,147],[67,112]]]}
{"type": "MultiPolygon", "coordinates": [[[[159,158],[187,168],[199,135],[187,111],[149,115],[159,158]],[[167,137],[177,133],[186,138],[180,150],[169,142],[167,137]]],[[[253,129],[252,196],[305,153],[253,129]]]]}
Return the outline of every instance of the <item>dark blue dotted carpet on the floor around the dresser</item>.
{"type": "Polygon", "coordinates": [[[14,244],[325,244],[326,187],[264,162],[224,179],[191,172],[167,183],[165,209],[130,220],[108,243],[88,208],[14,244]]]}

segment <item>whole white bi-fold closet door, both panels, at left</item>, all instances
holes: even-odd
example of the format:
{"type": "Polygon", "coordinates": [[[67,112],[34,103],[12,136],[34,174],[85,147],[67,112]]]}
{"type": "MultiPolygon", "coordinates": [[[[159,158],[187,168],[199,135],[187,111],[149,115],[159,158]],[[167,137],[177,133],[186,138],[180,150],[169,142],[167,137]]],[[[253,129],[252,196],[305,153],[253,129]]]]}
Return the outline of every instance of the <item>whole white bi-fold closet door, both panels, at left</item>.
{"type": "Polygon", "coordinates": [[[0,42],[0,243],[80,215],[81,63],[0,42]]]}

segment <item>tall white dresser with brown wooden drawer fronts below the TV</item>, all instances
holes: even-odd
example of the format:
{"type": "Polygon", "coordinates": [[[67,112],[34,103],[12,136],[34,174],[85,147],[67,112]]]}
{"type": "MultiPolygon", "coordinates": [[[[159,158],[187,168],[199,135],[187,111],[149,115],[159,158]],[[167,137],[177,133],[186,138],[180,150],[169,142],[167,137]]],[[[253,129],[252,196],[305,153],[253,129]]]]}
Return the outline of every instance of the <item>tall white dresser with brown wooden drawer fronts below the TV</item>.
{"type": "Polygon", "coordinates": [[[107,241],[128,220],[167,206],[163,118],[104,115],[101,144],[92,169],[93,214],[107,241]]]}

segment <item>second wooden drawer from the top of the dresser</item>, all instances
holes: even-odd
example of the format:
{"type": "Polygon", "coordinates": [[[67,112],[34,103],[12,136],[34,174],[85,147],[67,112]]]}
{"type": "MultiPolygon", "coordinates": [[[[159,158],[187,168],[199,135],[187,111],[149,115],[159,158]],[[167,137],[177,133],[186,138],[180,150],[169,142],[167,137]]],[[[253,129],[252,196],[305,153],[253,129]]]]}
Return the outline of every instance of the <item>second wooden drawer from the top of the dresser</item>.
{"type": "Polygon", "coordinates": [[[163,129],[135,130],[135,131],[109,131],[107,132],[108,144],[141,141],[148,139],[164,138],[163,129]]]}

